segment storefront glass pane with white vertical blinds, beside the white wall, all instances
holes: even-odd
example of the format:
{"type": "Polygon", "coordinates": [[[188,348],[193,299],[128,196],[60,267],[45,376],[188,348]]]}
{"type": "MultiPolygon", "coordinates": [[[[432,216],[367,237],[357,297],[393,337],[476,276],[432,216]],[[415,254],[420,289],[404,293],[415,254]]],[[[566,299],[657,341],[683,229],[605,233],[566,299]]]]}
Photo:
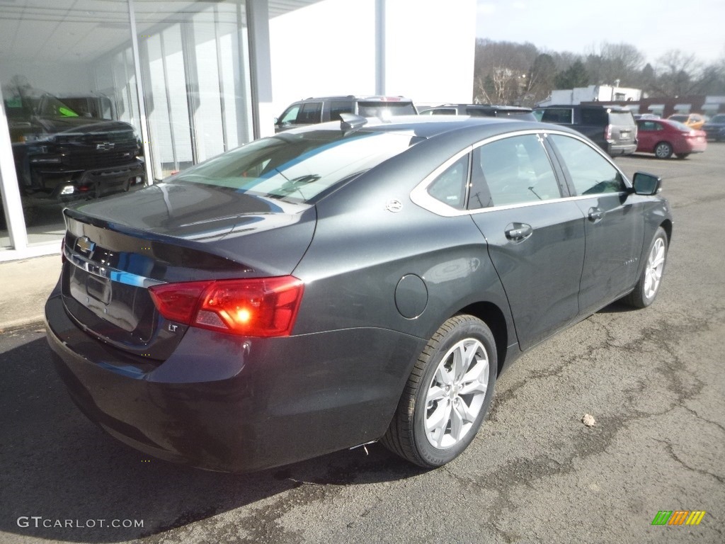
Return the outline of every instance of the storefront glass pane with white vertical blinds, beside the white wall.
{"type": "Polygon", "coordinates": [[[136,4],[155,180],[252,140],[242,21],[241,0],[136,4]]]}

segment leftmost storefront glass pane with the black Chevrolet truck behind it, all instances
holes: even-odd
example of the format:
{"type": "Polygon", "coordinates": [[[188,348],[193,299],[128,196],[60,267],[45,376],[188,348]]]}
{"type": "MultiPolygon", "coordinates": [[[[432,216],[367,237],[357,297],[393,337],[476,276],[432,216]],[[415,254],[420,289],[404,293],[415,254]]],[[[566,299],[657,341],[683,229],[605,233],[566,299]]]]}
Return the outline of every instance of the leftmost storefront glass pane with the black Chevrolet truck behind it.
{"type": "Polygon", "coordinates": [[[0,84],[17,181],[2,183],[4,194],[20,192],[28,245],[62,236],[61,210],[70,202],[144,181],[139,119],[128,115],[136,94],[122,107],[117,82],[98,70],[130,36],[123,2],[3,5],[0,84]]]}

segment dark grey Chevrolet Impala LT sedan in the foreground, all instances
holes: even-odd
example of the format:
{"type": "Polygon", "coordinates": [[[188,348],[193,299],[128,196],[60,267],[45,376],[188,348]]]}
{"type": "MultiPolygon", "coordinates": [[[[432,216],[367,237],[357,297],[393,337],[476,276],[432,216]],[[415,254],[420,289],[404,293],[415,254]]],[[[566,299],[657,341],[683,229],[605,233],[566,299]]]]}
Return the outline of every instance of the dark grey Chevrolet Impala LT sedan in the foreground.
{"type": "Polygon", "coordinates": [[[46,329],[90,419],[206,469],[376,440],[432,468],[523,351],[655,300],[656,176],[551,124],[342,118],[65,210],[46,329]]]}

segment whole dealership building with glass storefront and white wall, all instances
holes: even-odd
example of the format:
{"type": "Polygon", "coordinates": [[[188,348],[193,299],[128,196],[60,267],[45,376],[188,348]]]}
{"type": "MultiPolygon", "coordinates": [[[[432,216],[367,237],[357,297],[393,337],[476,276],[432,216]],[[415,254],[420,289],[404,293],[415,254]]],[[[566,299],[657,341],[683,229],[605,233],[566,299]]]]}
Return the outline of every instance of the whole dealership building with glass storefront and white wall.
{"type": "Polygon", "coordinates": [[[104,197],[59,169],[132,190],[272,135],[308,96],[471,102],[475,40],[475,0],[0,0],[0,261],[59,252],[60,202],[104,197]]]}

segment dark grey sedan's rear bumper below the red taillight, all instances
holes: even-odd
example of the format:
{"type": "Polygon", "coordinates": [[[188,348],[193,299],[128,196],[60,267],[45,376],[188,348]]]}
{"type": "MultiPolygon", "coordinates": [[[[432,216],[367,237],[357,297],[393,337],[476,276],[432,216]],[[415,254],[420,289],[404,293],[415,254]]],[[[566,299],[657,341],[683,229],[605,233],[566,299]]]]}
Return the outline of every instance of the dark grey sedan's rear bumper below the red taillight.
{"type": "Polygon", "coordinates": [[[156,364],[78,329],[57,291],[46,330],[57,371],[89,419],[149,455],[220,471],[378,439],[424,344],[382,329],[259,339],[191,328],[156,364]]]}

